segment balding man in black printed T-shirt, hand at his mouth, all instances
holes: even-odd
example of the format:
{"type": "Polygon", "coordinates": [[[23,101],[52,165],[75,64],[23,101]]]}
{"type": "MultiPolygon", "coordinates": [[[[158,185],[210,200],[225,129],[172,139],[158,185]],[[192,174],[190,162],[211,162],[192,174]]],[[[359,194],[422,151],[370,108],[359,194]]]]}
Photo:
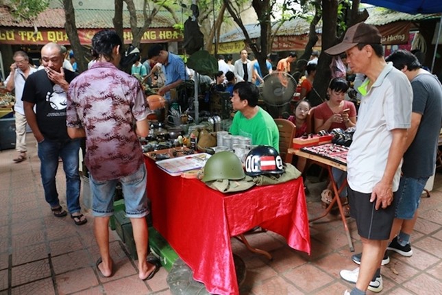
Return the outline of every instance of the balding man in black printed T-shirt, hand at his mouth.
{"type": "Polygon", "coordinates": [[[23,104],[29,127],[38,142],[40,173],[46,202],[56,217],[64,217],[66,211],[60,206],[56,187],[58,158],[62,159],[66,174],[66,203],[75,224],[88,220],[80,212],[79,205],[79,139],[70,139],[66,130],[66,91],[77,76],[64,71],[64,56],[60,45],[48,43],[41,49],[44,70],[29,75],[23,91],[23,104]],[[34,106],[36,106],[34,113],[34,106]]]}

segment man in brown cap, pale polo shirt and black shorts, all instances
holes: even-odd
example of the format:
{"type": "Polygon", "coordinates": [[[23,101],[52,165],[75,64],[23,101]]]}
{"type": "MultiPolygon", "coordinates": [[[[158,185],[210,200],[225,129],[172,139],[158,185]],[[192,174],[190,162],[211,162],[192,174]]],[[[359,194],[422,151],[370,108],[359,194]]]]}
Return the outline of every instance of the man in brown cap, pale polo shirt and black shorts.
{"type": "Polygon", "coordinates": [[[350,27],[327,54],[347,54],[352,71],[367,76],[358,88],[360,102],[356,132],[347,156],[350,215],[356,219],[363,244],[360,268],[341,270],[352,292],[382,291],[380,265],[393,219],[402,155],[410,128],[413,92],[406,75],[384,60],[381,36],[373,25],[350,27]]]}

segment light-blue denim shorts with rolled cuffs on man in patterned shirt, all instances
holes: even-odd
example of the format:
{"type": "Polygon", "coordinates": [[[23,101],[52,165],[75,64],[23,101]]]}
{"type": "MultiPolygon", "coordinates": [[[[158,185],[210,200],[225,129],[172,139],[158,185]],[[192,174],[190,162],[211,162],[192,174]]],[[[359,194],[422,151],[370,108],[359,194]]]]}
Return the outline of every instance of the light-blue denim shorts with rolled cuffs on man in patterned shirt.
{"type": "Polygon", "coordinates": [[[130,176],[119,179],[98,181],[90,175],[90,190],[93,194],[92,211],[97,217],[105,217],[114,214],[114,193],[118,182],[123,189],[126,216],[140,218],[149,214],[147,207],[146,166],[140,165],[138,170],[130,176]]]}

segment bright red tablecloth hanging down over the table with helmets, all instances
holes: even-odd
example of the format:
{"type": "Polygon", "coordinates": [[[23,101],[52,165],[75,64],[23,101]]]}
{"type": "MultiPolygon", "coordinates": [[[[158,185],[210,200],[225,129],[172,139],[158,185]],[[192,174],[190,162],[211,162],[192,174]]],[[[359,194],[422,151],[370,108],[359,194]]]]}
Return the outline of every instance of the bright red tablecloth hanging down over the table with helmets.
{"type": "Polygon", "coordinates": [[[199,180],[170,176],[147,157],[146,165],[154,227],[211,294],[239,294],[230,237],[254,226],[310,254],[302,178],[224,194],[199,180]]]}

